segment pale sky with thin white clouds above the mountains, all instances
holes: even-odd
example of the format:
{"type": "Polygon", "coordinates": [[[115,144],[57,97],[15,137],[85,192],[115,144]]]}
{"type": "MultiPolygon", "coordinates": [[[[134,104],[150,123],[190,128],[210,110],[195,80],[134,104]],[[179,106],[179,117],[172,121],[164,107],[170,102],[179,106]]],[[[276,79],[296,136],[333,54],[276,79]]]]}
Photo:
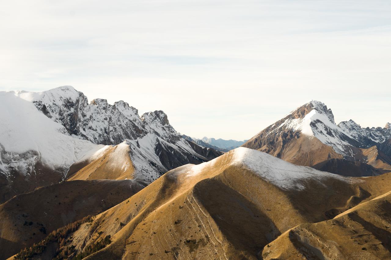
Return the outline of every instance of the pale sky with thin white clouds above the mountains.
{"type": "Polygon", "coordinates": [[[391,2],[3,1],[0,90],[72,85],[164,110],[193,137],[249,139],[311,100],[391,121],[391,2]]]}

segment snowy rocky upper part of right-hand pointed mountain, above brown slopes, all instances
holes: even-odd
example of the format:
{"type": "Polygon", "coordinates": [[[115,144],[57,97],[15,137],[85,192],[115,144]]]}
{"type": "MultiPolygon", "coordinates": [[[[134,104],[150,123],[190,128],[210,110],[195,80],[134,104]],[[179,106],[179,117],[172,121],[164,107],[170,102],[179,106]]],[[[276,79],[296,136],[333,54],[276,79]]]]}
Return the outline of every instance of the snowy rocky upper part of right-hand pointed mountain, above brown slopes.
{"type": "Polygon", "coordinates": [[[268,149],[279,151],[280,148],[275,147],[276,142],[283,147],[287,141],[301,135],[316,137],[323,144],[332,146],[337,153],[349,155],[349,146],[369,148],[390,139],[391,131],[386,128],[361,128],[353,120],[336,125],[332,110],[324,103],[312,100],[262,130],[244,146],[255,149],[271,147],[268,149]]]}

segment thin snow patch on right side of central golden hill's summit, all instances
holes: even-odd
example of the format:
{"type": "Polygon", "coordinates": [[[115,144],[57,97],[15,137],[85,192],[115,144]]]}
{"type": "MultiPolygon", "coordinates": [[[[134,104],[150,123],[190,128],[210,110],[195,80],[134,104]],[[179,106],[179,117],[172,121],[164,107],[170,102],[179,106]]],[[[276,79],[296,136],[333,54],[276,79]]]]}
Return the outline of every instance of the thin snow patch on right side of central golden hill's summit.
{"type": "Polygon", "coordinates": [[[233,164],[246,166],[249,170],[281,189],[304,189],[303,181],[306,179],[319,182],[326,178],[335,178],[346,182],[352,181],[348,177],[318,171],[307,166],[297,166],[267,153],[249,148],[239,147],[230,152],[234,153],[233,164]]]}

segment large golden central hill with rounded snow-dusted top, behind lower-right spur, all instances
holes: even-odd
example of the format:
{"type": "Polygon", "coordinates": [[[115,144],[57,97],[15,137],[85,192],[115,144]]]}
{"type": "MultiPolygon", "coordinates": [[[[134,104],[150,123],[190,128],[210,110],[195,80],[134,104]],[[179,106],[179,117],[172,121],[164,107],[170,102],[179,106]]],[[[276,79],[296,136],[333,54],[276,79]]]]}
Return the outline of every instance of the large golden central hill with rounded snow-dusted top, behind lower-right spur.
{"type": "Polygon", "coordinates": [[[111,244],[85,259],[260,259],[290,228],[327,222],[391,190],[391,174],[344,178],[313,169],[286,187],[274,181],[274,171],[288,167],[296,176],[310,169],[254,150],[259,163],[249,167],[236,151],[169,171],[83,224],[66,246],[80,252],[111,235],[111,244]]]}

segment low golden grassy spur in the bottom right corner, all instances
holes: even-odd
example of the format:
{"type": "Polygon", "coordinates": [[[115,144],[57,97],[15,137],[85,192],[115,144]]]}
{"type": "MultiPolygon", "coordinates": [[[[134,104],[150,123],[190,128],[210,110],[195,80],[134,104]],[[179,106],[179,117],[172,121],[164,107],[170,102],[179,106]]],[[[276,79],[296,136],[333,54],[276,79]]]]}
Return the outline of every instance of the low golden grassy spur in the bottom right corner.
{"type": "Polygon", "coordinates": [[[334,219],[301,224],[263,250],[263,259],[390,259],[391,192],[334,219]]]}

